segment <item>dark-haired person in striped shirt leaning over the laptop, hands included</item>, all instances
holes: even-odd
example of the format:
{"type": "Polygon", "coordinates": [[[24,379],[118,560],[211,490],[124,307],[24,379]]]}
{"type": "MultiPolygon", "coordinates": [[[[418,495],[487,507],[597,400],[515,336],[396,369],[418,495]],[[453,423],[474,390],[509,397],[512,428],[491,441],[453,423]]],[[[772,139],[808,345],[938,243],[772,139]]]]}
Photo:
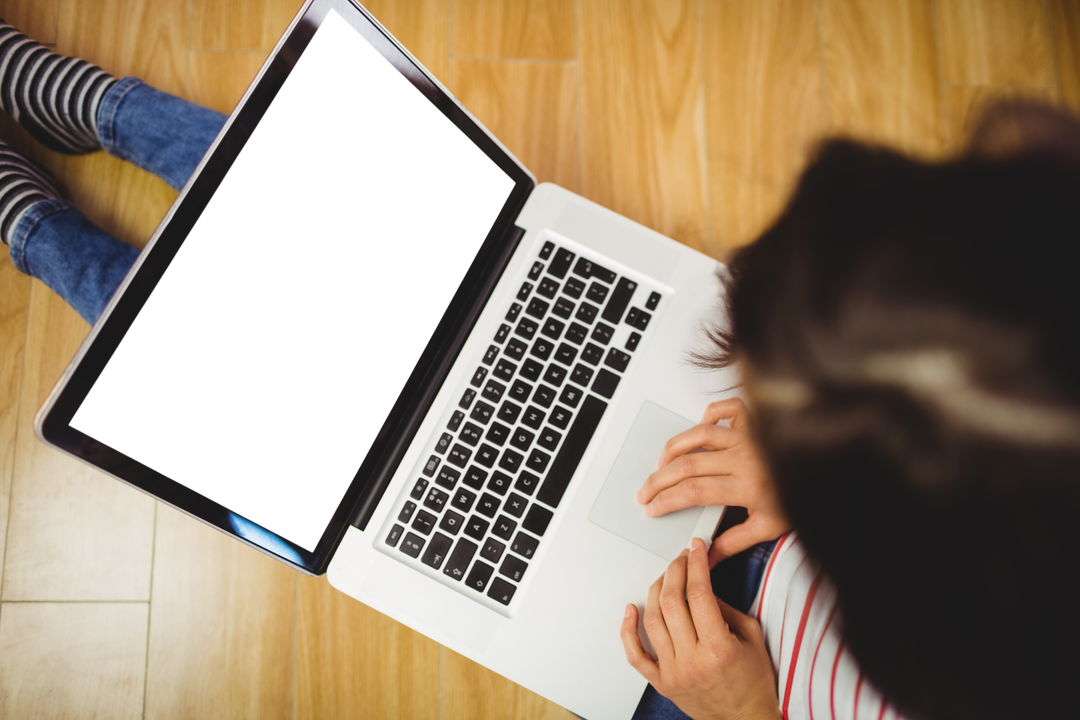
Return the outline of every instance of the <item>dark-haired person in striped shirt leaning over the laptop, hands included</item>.
{"type": "Polygon", "coordinates": [[[656,657],[627,607],[626,657],[674,703],[638,717],[1076,715],[1078,198],[1080,123],[1030,103],[947,162],[820,148],[700,358],[746,406],[711,406],[638,497],[750,518],[652,585],[656,657]],[[710,563],[773,539],[750,614],[714,599],[710,563]]]}

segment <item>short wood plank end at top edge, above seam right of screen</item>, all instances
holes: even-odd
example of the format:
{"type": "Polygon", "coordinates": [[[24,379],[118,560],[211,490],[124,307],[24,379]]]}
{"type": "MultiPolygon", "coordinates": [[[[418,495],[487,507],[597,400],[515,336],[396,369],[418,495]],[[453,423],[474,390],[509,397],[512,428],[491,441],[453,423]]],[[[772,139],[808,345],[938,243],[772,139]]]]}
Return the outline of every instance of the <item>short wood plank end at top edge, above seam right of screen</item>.
{"type": "Polygon", "coordinates": [[[573,0],[457,0],[456,57],[573,59],[573,0]]]}

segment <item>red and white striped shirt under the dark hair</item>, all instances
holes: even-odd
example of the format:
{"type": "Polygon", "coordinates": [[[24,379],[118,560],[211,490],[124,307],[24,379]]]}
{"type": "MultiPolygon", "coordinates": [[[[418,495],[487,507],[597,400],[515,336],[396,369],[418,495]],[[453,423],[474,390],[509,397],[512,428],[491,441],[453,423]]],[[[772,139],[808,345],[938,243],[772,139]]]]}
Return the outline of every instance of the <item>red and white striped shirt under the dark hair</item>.
{"type": "Polygon", "coordinates": [[[836,590],[795,532],[777,543],[750,614],[761,623],[787,720],[901,720],[836,626],[836,590]]]}

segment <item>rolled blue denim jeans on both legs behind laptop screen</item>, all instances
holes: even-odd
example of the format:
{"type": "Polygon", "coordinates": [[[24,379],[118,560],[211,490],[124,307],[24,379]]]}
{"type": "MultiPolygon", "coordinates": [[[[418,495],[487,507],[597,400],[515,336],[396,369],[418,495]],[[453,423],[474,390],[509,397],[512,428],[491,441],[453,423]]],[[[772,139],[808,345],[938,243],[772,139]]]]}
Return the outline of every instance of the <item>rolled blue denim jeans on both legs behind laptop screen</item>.
{"type": "MultiPolygon", "coordinates": [[[[154,90],[138,78],[117,82],[97,111],[106,152],[179,190],[214,142],[225,116],[154,90]]],[[[37,203],[12,228],[15,268],[53,288],[93,325],[138,257],[64,200],[37,203]]]]}

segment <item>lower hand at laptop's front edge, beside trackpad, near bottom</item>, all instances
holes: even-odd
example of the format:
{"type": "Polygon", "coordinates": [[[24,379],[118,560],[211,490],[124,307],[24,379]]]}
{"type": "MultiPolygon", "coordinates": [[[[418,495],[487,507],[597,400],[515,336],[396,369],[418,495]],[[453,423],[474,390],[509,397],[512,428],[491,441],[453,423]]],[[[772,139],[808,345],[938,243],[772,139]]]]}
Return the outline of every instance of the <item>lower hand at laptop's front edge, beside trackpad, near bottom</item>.
{"type": "Polygon", "coordinates": [[[626,660],[694,720],[780,718],[761,627],[713,596],[704,542],[696,538],[689,554],[683,553],[649,588],[645,631],[657,660],[637,637],[633,604],[620,631],[626,660]]]}

